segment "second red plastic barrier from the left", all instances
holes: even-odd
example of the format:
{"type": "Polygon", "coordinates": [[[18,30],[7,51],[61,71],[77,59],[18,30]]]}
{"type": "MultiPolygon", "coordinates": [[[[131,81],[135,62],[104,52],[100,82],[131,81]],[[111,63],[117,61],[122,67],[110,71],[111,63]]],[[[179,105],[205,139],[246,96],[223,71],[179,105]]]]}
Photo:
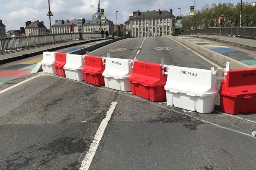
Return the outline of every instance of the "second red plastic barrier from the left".
{"type": "Polygon", "coordinates": [[[104,77],[102,76],[105,70],[102,58],[97,56],[85,56],[85,66],[83,68],[84,80],[93,85],[105,85],[104,77]]]}

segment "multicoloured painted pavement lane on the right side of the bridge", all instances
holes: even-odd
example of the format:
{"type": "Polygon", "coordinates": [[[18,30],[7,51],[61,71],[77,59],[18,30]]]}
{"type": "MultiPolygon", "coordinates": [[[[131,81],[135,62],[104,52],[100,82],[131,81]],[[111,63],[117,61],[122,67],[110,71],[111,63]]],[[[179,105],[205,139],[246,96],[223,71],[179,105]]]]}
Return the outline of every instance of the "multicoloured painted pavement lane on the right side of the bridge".
{"type": "Polygon", "coordinates": [[[183,40],[187,40],[189,42],[192,42],[194,44],[197,45],[202,45],[205,48],[208,48],[212,51],[215,51],[217,53],[223,54],[227,57],[230,57],[232,59],[236,59],[240,62],[243,62],[247,65],[251,65],[251,66],[256,66],[256,56],[250,56],[250,54],[243,52],[243,51],[239,51],[235,48],[230,48],[230,47],[226,47],[223,45],[215,45],[212,44],[211,42],[202,40],[202,39],[196,39],[193,37],[180,37],[183,40]]]}

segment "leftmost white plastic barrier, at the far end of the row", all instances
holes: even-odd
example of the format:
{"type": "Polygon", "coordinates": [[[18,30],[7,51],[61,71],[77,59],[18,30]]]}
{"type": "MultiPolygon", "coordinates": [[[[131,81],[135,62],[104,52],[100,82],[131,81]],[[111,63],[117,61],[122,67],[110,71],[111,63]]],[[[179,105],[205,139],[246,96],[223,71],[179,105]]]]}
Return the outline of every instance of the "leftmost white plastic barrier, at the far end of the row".
{"type": "Polygon", "coordinates": [[[55,52],[43,52],[43,60],[41,61],[43,72],[55,74],[53,62],[55,62],[55,52]]]}

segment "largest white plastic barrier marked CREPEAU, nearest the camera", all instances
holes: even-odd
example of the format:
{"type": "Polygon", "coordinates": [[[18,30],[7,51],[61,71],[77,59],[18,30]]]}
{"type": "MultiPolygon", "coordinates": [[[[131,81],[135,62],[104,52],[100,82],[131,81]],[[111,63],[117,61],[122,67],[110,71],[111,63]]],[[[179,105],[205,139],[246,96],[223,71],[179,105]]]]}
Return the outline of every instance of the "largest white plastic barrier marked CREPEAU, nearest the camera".
{"type": "Polygon", "coordinates": [[[214,111],[218,90],[213,67],[204,70],[171,65],[167,69],[167,105],[198,113],[214,111]]]}

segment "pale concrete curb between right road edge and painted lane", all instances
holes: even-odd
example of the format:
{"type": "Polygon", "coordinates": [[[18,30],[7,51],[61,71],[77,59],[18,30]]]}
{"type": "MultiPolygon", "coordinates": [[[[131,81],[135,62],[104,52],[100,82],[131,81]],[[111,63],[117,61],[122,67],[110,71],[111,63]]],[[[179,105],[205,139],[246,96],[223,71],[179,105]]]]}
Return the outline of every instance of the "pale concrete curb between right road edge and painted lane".
{"type": "Polygon", "coordinates": [[[200,45],[197,45],[197,44],[194,44],[192,42],[182,40],[181,38],[174,37],[174,36],[171,36],[171,35],[168,35],[168,36],[166,35],[166,36],[163,36],[163,37],[169,37],[173,40],[176,40],[177,42],[180,42],[181,44],[184,44],[184,45],[188,46],[189,48],[192,48],[196,52],[199,52],[199,53],[203,54],[204,57],[206,57],[207,59],[211,60],[212,62],[220,65],[223,68],[226,67],[226,62],[230,62],[230,68],[231,69],[250,68],[250,66],[247,65],[247,64],[244,64],[242,62],[239,62],[235,59],[224,56],[222,54],[219,54],[215,51],[211,51],[207,48],[204,48],[204,47],[202,47],[200,45]]]}

